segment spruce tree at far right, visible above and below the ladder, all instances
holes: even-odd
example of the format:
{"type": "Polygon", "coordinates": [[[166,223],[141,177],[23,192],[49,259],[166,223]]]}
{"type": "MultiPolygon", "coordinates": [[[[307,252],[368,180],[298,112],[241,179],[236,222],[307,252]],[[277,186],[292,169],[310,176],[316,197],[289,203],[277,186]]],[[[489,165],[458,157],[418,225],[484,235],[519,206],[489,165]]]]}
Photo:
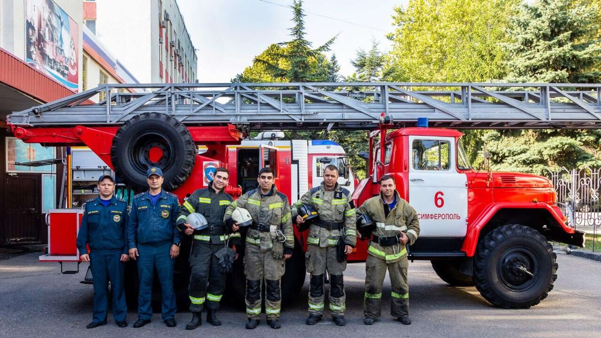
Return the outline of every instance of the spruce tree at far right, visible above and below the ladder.
{"type": "MultiPolygon", "coordinates": [[[[537,0],[520,6],[505,43],[510,82],[601,79],[599,2],[537,0]]],[[[492,168],[546,174],[547,168],[601,165],[596,130],[487,131],[492,168]]]]}

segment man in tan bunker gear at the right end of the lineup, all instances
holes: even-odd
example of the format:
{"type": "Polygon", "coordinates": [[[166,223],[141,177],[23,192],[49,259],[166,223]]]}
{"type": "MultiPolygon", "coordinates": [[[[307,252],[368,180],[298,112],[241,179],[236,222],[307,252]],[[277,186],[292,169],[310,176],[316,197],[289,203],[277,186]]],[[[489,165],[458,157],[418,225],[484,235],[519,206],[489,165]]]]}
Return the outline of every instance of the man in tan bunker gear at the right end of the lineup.
{"type": "Polygon", "coordinates": [[[395,190],[394,177],[382,176],[380,194],[366,200],[359,215],[369,215],[376,222],[365,261],[365,325],[371,325],[381,315],[382,284],[386,269],[392,284],[390,314],[405,325],[409,319],[409,281],[407,280],[407,249],[419,236],[417,213],[395,190]]]}

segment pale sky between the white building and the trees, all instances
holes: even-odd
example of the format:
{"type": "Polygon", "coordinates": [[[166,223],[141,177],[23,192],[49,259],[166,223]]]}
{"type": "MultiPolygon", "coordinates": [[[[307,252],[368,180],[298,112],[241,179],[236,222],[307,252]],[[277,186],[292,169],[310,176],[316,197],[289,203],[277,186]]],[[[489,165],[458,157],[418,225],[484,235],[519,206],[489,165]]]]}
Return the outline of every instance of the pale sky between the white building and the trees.
{"type": "MultiPolygon", "coordinates": [[[[306,0],[303,6],[307,14],[306,38],[317,48],[340,33],[332,52],[340,63],[341,75],[349,75],[355,70],[349,60],[355,58],[358,48],[369,49],[373,38],[380,41],[383,51],[390,48],[385,35],[393,30],[392,8],[406,6],[407,2],[306,0]]],[[[287,28],[293,25],[292,11],[282,6],[291,3],[291,0],[177,0],[192,43],[198,49],[198,80],[230,82],[271,43],[290,40],[287,28]]],[[[112,52],[118,58],[118,51],[112,52]]]]}

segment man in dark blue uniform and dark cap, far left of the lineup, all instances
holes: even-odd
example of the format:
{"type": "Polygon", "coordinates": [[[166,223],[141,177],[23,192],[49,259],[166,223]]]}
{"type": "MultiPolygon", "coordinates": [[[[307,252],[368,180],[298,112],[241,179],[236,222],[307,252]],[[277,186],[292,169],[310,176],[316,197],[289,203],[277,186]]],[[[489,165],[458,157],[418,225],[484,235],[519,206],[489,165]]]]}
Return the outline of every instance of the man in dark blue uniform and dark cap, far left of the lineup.
{"type": "Polygon", "coordinates": [[[111,281],[113,318],[126,327],[127,306],[123,289],[123,262],[127,256],[127,203],[113,195],[115,180],[103,175],[98,180],[100,195],[84,205],[77,247],[82,262],[90,262],[94,286],[92,322],[87,328],[106,324],[108,282],[111,281]],[[86,245],[90,246],[90,253],[86,245]]]}

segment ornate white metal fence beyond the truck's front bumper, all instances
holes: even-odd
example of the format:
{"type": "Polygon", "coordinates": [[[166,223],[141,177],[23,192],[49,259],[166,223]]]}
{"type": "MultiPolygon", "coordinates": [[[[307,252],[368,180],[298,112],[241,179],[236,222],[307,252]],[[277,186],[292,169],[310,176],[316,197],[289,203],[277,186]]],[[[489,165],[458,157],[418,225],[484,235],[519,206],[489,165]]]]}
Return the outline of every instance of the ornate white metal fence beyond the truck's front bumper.
{"type": "Polygon", "coordinates": [[[594,241],[601,226],[601,168],[549,170],[549,179],[557,192],[557,202],[563,203],[571,214],[573,227],[593,234],[594,241]]]}

